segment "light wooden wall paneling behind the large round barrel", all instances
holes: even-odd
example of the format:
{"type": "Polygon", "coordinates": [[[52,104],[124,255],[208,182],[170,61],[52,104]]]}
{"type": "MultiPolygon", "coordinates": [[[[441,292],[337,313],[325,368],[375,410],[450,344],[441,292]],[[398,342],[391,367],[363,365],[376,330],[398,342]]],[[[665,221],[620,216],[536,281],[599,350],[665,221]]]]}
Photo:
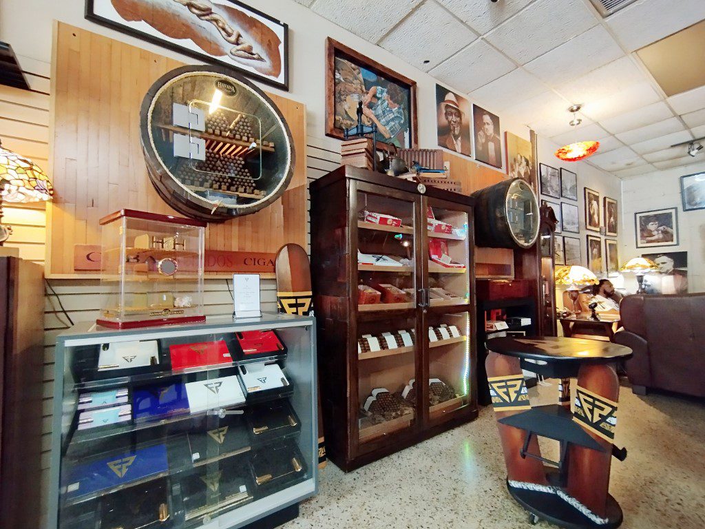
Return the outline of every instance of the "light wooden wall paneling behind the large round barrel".
{"type": "MultiPolygon", "coordinates": [[[[176,214],[149,181],[140,143],[140,105],[149,87],[181,63],[64,23],[56,23],[52,67],[52,173],[56,200],[47,215],[47,275],[73,270],[73,245],[99,244],[97,220],[131,207],[176,214]]],[[[288,190],[305,186],[305,106],[270,95],[298,152],[288,190]]],[[[305,191],[257,214],[209,224],[206,247],[268,253],[306,240],[305,191]],[[296,201],[298,200],[298,204],[296,201]],[[302,214],[304,212],[304,214],[302,214]]],[[[305,243],[305,242],[304,242],[305,243]]]]}

